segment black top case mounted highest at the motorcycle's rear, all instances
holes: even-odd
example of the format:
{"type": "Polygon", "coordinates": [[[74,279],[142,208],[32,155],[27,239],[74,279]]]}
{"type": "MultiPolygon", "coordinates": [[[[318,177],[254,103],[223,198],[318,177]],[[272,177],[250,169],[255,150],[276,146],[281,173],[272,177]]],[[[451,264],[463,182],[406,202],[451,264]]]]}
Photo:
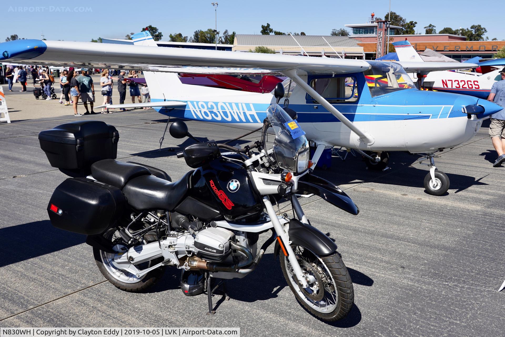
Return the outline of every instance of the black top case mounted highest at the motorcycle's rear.
{"type": "Polygon", "coordinates": [[[119,132],[101,121],[77,121],[38,134],[49,163],[71,177],[85,177],[91,164],[116,159],[119,132]]]}

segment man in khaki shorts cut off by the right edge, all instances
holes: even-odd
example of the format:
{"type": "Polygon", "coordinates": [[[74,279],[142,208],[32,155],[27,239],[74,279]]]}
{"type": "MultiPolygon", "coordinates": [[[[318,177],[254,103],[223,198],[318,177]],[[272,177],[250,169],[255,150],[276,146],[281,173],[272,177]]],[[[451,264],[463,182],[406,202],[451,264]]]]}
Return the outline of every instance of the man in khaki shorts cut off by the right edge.
{"type": "MultiPolygon", "coordinates": [[[[494,82],[487,100],[505,108],[505,68],[501,70],[501,81],[494,82]]],[[[498,167],[505,162],[505,154],[503,154],[503,150],[505,150],[505,109],[491,115],[489,135],[494,150],[498,153],[493,167],[498,167]]]]}

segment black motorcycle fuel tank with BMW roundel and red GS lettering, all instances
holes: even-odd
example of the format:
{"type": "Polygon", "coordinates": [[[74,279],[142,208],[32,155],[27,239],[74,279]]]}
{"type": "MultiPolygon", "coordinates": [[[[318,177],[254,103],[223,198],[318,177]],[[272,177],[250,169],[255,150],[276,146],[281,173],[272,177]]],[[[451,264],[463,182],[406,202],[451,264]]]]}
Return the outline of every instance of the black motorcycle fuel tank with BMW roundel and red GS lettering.
{"type": "Polygon", "coordinates": [[[193,172],[189,195],[219,210],[228,221],[257,221],[263,213],[261,196],[247,170],[223,159],[212,160],[193,172]]]}

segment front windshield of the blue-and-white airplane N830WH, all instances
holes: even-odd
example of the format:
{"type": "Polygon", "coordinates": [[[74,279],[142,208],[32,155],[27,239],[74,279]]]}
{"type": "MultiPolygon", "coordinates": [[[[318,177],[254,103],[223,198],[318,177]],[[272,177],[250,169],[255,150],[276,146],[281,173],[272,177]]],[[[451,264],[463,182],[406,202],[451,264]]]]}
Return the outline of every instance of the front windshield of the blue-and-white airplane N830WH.
{"type": "Polygon", "coordinates": [[[403,68],[394,62],[368,61],[372,66],[364,72],[372,97],[415,88],[414,82],[403,68]]]}

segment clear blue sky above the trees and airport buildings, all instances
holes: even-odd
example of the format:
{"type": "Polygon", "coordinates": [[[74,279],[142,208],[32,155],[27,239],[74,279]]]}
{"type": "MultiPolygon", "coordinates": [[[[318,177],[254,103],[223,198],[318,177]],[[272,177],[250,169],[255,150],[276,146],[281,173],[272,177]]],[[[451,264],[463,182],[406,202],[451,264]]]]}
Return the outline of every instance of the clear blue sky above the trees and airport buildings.
{"type": "MultiPolygon", "coordinates": [[[[98,36],[122,38],[149,24],[156,26],[168,40],[170,33],[191,36],[196,29],[214,28],[215,0],[150,1],[11,1],[2,5],[0,42],[7,36],[48,40],[89,41],[98,36]],[[16,4],[23,4],[16,6],[16,4]]],[[[384,17],[387,0],[381,1],[239,1],[218,0],[218,30],[238,34],[259,34],[261,25],[270,23],[279,31],[307,35],[327,35],[344,24],[365,23],[370,13],[384,17]]],[[[391,1],[391,10],[408,21],[417,21],[416,32],[424,33],[428,24],[469,28],[480,24],[489,39],[505,39],[503,19],[479,9],[475,1],[391,1]]]]}

